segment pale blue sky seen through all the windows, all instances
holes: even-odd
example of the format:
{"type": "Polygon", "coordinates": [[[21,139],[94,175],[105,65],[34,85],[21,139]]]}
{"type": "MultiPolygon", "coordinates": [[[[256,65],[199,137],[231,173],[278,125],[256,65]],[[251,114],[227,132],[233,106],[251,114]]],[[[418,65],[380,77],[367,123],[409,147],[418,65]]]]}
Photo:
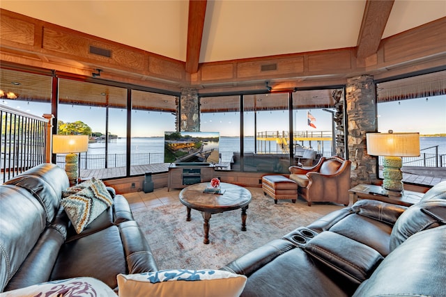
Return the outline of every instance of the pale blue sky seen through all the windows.
{"type": "MultiPolygon", "coordinates": [[[[27,111],[35,115],[50,113],[49,104],[3,100],[0,104],[27,111]]],[[[307,125],[307,110],[294,112],[295,131],[329,131],[332,127],[331,113],[321,109],[309,110],[316,121],[316,129],[307,125]]],[[[109,131],[118,136],[126,133],[126,112],[110,109],[109,131]]],[[[94,132],[105,132],[105,109],[92,106],[62,105],[59,120],[75,122],[82,120],[94,132]]],[[[288,112],[265,111],[257,115],[257,131],[288,131],[288,112]]],[[[220,136],[240,134],[238,113],[208,113],[201,115],[201,131],[218,131],[220,136]]],[[[171,113],[132,111],[132,136],[164,136],[164,131],[175,131],[175,116],[171,113]]],[[[408,99],[401,102],[378,104],[378,131],[420,132],[420,134],[446,134],[446,95],[428,99],[408,99]]],[[[245,135],[254,134],[253,113],[245,114],[245,135]]]]}

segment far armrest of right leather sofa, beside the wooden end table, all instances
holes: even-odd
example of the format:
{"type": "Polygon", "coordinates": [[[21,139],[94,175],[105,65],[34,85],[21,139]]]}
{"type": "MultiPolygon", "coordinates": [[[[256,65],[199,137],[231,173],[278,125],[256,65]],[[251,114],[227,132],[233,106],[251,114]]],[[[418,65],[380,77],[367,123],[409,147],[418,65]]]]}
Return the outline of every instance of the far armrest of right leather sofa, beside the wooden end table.
{"type": "Polygon", "coordinates": [[[402,205],[386,203],[376,200],[360,200],[352,205],[351,209],[355,214],[367,216],[374,220],[393,226],[397,222],[399,216],[406,211],[407,207],[402,205]]]}

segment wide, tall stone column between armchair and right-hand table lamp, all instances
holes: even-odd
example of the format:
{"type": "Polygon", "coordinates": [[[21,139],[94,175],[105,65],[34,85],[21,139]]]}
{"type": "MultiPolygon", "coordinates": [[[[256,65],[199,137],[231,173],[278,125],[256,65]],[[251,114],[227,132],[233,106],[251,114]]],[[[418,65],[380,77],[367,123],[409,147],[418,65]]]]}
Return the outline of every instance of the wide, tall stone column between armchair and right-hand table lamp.
{"type": "Polygon", "coordinates": [[[373,77],[362,75],[347,79],[346,104],[351,186],[372,184],[376,182],[376,156],[367,154],[366,133],[377,130],[373,77]]]}

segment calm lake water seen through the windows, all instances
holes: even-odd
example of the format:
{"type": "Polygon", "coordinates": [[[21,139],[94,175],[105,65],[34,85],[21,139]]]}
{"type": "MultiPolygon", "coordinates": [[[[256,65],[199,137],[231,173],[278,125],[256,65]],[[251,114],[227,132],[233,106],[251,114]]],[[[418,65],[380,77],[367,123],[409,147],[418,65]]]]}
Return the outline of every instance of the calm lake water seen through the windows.
{"type": "MultiPolygon", "coordinates": [[[[305,141],[304,146],[309,146],[305,141]]],[[[423,150],[426,147],[433,147],[438,145],[438,154],[446,154],[446,137],[420,137],[420,148],[423,150]]],[[[245,152],[254,152],[254,137],[245,138],[245,152]]],[[[313,141],[312,146],[317,148],[317,142],[313,141]]],[[[120,138],[109,143],[109,154],[125,154],[126,140],[120,138]]],[[[272,152],[279,151],[275,142],[269,142],[266,147],[272,152]]],[[[331,141],[323,141],[321,144],[323,152],[331,152],[331,141]]],[[[220,152],[238,152],[240,151],[240,140],[236,137],[220,137],[220,152]]],[[[148,138],[132,138],[131,142],[132,154],[147,153],[147,152],[164,152],[164,138],[163,137],[148,137],[148,138]]],[[[435,148],[423,150],[427,154],[435,154],[435,148]]],[[[105,154],[105,143],[90,143],[89,154],[105,154]]]]}

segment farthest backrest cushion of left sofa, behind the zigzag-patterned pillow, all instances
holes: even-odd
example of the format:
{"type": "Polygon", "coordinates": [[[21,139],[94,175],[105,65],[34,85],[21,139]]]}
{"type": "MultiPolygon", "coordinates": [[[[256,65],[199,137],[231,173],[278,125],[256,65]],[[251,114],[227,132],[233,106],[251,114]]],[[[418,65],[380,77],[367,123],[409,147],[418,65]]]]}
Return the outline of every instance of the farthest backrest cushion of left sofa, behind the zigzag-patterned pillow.
{"type": "Polygon", "coordinates": [[[47,224],[54,220],[59,210],[62,191],[70,186],[65,170],[52,163],[26,170],[5,184],[20,186],[33,194],[45,209],[47,224]]]}

